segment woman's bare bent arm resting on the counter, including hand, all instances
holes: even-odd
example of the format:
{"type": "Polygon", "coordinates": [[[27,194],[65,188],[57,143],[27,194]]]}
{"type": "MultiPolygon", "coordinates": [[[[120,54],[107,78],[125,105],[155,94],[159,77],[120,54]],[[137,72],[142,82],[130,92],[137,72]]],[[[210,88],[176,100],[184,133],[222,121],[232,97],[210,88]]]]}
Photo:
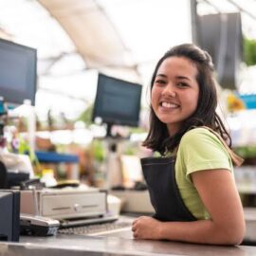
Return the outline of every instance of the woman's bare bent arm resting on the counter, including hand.
{"type": "Polygon", "coordinates": [[[245,234],[243,207],[232,174],[227,170],[207,170],[192,174],[210,220],[159,222],[139,217],[133,224],[134,236],[213,245],[238,245],[245,234]]]}

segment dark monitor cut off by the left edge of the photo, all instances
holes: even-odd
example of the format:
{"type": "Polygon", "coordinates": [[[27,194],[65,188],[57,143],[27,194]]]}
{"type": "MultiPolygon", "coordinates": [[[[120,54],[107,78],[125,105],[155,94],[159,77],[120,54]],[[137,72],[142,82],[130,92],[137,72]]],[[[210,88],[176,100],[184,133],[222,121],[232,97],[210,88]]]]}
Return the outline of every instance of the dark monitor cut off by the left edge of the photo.
{"type": "Polygon", "coordinates": [[[35,103],[36,49],[0,39],[0,96],[9,103],[35,103]]]}

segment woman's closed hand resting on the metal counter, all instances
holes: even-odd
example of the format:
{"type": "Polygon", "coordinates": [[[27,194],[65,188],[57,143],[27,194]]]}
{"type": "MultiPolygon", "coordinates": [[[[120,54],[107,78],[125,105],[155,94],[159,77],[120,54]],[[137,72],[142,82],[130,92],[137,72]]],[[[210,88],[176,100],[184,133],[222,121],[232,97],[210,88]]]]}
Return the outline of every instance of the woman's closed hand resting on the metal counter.
{"type": "Polygon", "coordinates": [[[132,231],[137,239],[161,239],[161,222],[152,217],[141,216],[133,222],[132,231]]]}

